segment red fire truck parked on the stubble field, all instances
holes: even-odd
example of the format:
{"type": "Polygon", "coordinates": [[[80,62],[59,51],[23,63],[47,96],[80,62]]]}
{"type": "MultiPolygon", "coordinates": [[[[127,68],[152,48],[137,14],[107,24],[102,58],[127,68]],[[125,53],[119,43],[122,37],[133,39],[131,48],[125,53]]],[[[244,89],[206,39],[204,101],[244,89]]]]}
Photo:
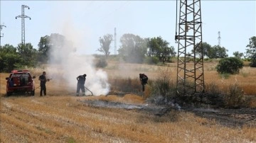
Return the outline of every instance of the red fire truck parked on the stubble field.
{"type": "Polygon", "coordinates": [[[12,93],[30,93],[35,95],[35,83],[28,70],[13,70],[9,77],[6,77],[6,95],[11,96],[12,93]]]}

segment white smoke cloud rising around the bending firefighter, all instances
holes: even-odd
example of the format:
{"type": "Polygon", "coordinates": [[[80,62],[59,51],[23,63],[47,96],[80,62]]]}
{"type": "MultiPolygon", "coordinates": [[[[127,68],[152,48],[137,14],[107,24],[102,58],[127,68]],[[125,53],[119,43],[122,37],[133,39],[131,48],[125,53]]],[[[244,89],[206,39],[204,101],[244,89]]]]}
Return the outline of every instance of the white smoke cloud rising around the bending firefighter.
{"type": "MultiPolygon", "coordinates": [[[[95,69],[93,59],[94,57],[90,55],[82,55],[83,53],[78,53],[76,51],[86,50],[88,47],[82,45],[81,38],[83,38],[83,33],[75,33],[75,28],[70,24],[65,23],[63,26],[63,33],[61,35],[65,36],[66,42],[58,43],[57,37],[51,37],[51,42],[53,43],[53,48],[51,48],[50,54],[50,69],[58,69],[60,73],[59,78],[65,79],[65,83],[70,89],[76,91],[77,80],[76,77],[82,74],[87,74],[85,86],[92,91],[95,96],[106,95],[110,91],[110,84],[107,82],[107,73],[101,69],[95,69]]],[[[57,72],[58,72],[57,71],[57,72]]],[[[56,85],[58,86],[58,85],[56,85]]],[[[85,94],[91,94],[85,88],[85,94]]],[[[80,91],[81,95],[81,91],[80,91]]]]}

